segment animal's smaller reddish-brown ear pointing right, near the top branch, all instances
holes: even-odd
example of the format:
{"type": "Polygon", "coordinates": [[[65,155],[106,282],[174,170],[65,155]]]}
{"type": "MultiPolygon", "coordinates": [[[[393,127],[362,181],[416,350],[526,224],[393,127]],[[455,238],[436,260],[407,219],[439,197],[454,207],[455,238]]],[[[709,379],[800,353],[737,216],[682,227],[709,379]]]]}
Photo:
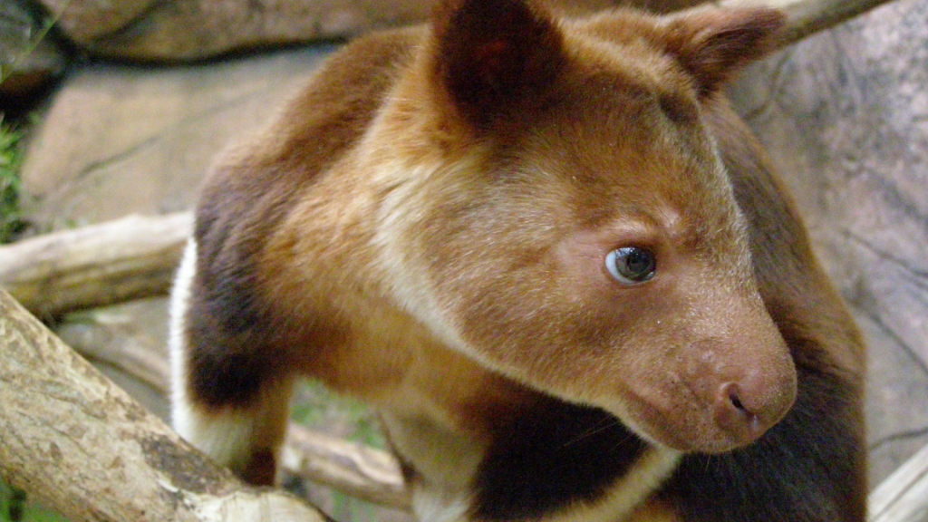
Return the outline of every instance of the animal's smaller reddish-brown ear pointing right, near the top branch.
{"type": "Polygon", "coordinates": [[[703,7],[664,20],[665,48],[690,72],[700,98],[707,98],[773,49],[786,17],[767,7],[703,7]]]}

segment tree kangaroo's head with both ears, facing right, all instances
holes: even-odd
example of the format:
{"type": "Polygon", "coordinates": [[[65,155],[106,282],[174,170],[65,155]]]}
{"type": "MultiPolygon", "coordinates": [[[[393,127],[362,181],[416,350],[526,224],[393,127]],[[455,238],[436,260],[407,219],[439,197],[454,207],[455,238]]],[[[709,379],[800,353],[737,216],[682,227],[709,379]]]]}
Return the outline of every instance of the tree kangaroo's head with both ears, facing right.
{"type": "Polygon", "coordinates": [[[760,437],[796,374],[702,111],[781,23],[764,8],[440,7],[375,131],[422,173],[383,219],[418,281],[404,306],[485,366],[654,443],[760,437]]]}

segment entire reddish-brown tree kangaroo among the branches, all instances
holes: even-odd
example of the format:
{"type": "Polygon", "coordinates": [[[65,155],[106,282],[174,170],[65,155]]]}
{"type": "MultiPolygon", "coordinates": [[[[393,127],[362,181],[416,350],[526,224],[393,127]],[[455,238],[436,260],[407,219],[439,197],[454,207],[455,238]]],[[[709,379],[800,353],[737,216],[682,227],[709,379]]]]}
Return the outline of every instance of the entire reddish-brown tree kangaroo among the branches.
{"type": "MultiPolygon", "coordinates": [[[[209,425],[278,419],[298,374],[364,398],[435,519],[863,520],[861,339],[718,96],[781,20],[455,0],[348,46],[203,191],[183,400],[209,425]],[[610,275],[626,246],[651,281],[610,275]],[[745,476],[805,437],[854,455],[795,464],[811,500],[745,476]],[[746,492],[698,496],[710,472],[746,492]]],[[[216,455],[268,483],[270,422],[216,455]]]]}

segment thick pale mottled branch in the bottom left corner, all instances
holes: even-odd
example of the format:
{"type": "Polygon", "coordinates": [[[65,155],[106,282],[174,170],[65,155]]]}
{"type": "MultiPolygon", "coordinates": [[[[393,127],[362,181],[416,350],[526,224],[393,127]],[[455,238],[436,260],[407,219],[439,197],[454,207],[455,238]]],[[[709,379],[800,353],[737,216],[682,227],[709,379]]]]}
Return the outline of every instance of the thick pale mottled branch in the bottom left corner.
{"type": "Polygon", "coordinates": [[[242,485],[0,291],[0,477],[71,520],[325,520],[242,485]]]}

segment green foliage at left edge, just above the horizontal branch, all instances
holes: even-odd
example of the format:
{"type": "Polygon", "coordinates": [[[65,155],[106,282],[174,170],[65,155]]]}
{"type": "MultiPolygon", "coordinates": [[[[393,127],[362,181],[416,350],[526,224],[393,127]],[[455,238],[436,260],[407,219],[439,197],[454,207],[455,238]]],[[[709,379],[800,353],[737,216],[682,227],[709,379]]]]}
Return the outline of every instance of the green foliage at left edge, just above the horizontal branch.
{"type": "Polygon", "coordinates": [[[26,228],[19,213],[21,186],[19,167],[22,150],[19,142],[22,132],[3,123],[0,117],[0,244],[13,241],[26,228]]]}

